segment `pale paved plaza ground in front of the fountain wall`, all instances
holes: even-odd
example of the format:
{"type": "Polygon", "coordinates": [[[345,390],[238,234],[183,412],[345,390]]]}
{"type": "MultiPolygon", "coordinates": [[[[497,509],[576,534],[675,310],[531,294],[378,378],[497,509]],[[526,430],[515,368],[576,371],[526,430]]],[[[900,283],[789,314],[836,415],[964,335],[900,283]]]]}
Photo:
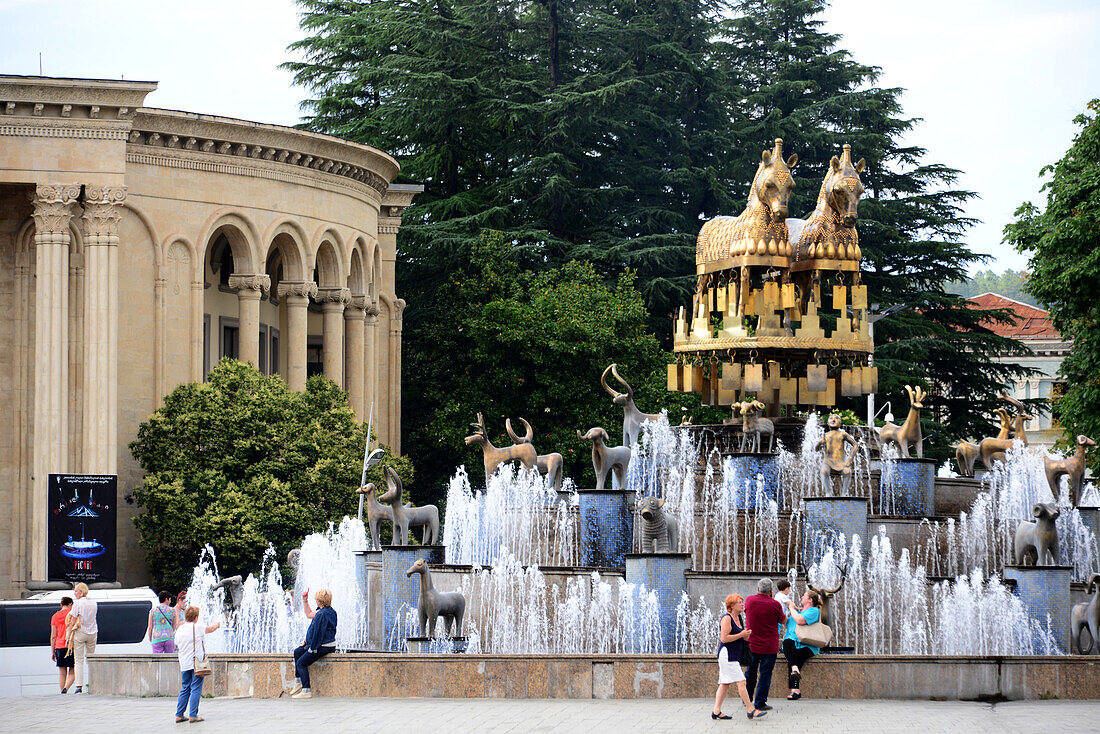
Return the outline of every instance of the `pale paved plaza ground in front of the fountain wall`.
{"type": "Polygon", "coordinates": [[[38,695],[0,699],[0,732],[1096,732],[1097,701],[802,700],[748,721],[727,700],[730,721],[712,721],[713,700],[204,699],[197,724],[173,723],[175,699],[38,695]],[[200,728],[201,727],[201,728],[200,728]]]}

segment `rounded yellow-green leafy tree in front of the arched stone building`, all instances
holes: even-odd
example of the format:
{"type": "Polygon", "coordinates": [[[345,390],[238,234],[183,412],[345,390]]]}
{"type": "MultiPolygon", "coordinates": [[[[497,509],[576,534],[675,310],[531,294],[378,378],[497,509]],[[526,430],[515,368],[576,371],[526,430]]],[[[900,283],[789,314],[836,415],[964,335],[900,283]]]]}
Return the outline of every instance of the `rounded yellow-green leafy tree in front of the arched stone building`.
{"type": "MultiPolygon", "coordinates": [[[[145,476],[133,500],[140,543],[157,583],[190,580],[207,544],[224,574],[248,574],[273,545],[280,556],[302,537],[358,511],[366,426],[348,395],[315,375],[305,392],[223,360],[205,383],[184,384],[138,429],[130,450],[145,476]]],[[[406,459],[382,468],[411,480],[406,459]]]]}

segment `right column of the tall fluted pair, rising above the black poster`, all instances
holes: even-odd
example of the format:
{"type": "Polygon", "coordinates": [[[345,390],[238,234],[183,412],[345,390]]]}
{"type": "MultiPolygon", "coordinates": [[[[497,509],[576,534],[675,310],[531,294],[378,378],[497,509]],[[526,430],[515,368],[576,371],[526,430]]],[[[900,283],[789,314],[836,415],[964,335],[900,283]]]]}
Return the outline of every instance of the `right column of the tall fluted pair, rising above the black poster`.
{"type": "Polygon", "coordinates": [[[119,220],[124,186],[84,195],[84,471],[118,471],[119,220]]]}

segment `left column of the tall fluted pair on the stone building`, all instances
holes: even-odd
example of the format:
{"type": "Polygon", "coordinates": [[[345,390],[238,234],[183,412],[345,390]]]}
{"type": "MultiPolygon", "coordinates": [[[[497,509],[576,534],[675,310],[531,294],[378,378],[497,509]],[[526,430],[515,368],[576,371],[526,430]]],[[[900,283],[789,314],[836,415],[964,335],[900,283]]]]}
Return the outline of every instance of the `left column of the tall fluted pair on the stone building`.
{"type": "Polygon", "coordinates": [[[34,494],[31,578],[46,578],[48,474],[68,470],[68,255],[79,184],[38,184],[34,204],[34,494]]]}

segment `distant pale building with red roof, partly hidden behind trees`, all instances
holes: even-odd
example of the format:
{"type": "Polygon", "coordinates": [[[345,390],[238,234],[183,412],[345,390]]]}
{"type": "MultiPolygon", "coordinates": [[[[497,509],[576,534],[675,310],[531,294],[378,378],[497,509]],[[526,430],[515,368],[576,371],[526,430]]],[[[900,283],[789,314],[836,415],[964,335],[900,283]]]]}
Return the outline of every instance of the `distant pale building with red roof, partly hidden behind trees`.
{"type": "MultiPolygon", "coordinates": [[[[1060,395],[1064,383],[1058,379],[1058,368],[1069,354],[1072,342],[1063,339],[1050,324],[1050,313],[998,293],[983,293],[967,300],[976,308],[1003,308],[1015,314],[1014,324],[987,324],[986,327],[999,336],[1023,342],[1032,351],[1030,357],[1004,357],[997,360],[1038,371],[1034,376],[1005,385],[1005,392],[1018,399],[1042,397],[1049,401],[1060,395]]],[[[1062,437],[1062,426],[1052,419],[1049,409],[1027,421],[1027,440],[1035,446],[1053,446],[1062,437]]]]}

